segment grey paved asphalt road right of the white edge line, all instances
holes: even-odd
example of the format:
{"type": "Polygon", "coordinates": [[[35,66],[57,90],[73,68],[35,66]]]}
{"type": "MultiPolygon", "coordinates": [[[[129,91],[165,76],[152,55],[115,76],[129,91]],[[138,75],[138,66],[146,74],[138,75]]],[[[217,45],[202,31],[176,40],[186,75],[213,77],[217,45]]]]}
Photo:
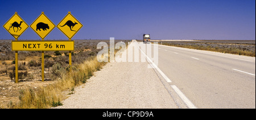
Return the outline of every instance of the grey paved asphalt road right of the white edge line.
{"type": "Polygon", "coordinates": [[[197,108],[255,109],[255,57],[166,45],[158,53],[168,84],[197,108]]]}

